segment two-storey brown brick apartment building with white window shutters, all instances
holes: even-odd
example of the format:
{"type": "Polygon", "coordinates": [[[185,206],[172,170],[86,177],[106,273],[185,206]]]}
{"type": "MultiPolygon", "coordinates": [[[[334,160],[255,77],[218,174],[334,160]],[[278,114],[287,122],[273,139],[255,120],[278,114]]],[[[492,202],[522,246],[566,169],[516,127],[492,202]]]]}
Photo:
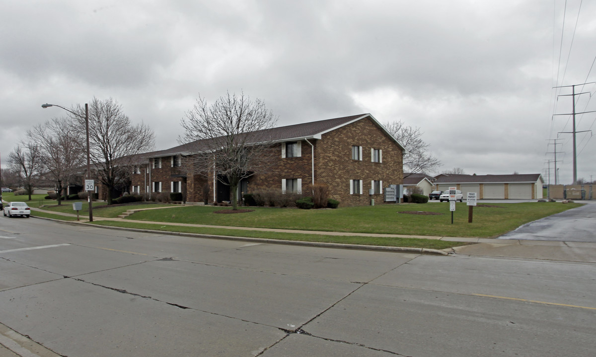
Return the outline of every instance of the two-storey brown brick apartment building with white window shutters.
{"type": "MultiPolygon", "coordinates": [[[[240,183],[237,193],[281,190],[302,193],[312,183],[327,184],[330,197],[344,206],[383,202],[383,189],[403,184],[403,146],[371,114],[277,127],[271,130],[277,159],[266,173],[240,183]]],[[[181,192],[188,203],[231,200],[229,186],[185,168],[195,155],[181,145],[142,155],[134,168],[130,193],[181,192]]],[[[306,192],[305,192],[306,193],[306,192]]]]}

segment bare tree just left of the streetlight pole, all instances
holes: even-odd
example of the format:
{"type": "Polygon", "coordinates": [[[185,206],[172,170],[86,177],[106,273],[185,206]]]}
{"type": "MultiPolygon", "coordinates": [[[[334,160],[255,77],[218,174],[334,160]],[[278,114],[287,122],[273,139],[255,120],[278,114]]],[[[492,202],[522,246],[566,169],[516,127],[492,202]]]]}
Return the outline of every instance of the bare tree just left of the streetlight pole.
{"type": "Polygon", "coordinates": [[[85,164],[85,137],[82,130],[72,130],[72,121],[54,118],[27,130],[30,142],[39,149],[42,176],[54,182],[58,190],[58,205],[61,205],[64,184],[85,164]]]}

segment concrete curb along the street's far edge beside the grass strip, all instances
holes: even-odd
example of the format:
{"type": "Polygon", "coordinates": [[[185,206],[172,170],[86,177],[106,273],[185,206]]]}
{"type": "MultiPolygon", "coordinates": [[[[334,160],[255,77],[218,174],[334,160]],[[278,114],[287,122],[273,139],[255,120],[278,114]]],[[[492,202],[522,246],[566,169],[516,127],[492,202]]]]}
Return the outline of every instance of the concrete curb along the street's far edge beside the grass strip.
{"type": "MultiPolygon", "coordinates": [[[[429,248],[409,248],[409,247],[389,247],[389,246],[371,246],[371,245],[358,245],[358,244],[342,244],[342,243],[323,243],[323,242],[305,242],[302,240],[283,240],[283,239],[268,239],[268,238],[253,238],[253,237],[235,237],[235,236],[216,236],[215,234],[199,234],[199,233],[185,233],[185,232],[171,232],[171,231],[160,231],[140,228],[127,228],[127,227],[113,227],[113,226],[98,226],[97,224],[77,222],[77,221],[62,221],[55,220],[54,218],[46,217],[35,217],[41,218],[42,220],[56,221],[66,224],[75,224],[81,226],[90,226],[96,228],[111,228],[117,230],[128,230],[138,231],[156,234],[172,234],[175,236],[184,237],[197,237],[197,238],[209,238],[209,239],[222,239],[222,240],[238,240],[240,242],[255,242],[255,243],[270,243],[270,244],[283,244],[283,245],[296,245],[296,246],[309,246],[319,248],[336,248],[336,249],[359,249],[359,250],[374,250],[378,252],[401,252],[401,253],[415,253],[415,254],[433,254],[433,255],[449,255],[448,252],[439,249],[429,248]]],[[[451,248],[449,248],[451,249],[451,248]]]]}

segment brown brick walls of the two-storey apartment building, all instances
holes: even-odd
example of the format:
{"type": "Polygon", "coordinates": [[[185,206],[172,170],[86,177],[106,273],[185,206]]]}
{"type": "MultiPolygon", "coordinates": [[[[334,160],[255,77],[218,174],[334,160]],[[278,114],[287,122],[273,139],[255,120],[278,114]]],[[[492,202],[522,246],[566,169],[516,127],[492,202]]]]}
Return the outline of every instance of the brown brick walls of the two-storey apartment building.
{"type": "MultiPolygon", "coordinates": [[[[314,146],[315,183],[327,184],[331,198],[342,206],[383,203],[383,194],[369,195],[371,180],[383,181],[383,189],[389,184],[403,184],[402,151],[373,120],[365,118],[323,134],[320,140],[309,140],[314,146]],[[352,145],[362,146],[362,160],[352,160],[352,145]],[[371,148],[382,151],[382,162],[371,162],[371,148]],[[363,180],[362,194],[350,195],[350,181],[363,180]]],[[[302,179],[303,193],[308,194],[312,184],[312,149],[306,140],[300,141],[301,156],[282,158],[282,145],[274,146],[275,164],[266,173],[249,178],[248,192],[256,190],[281,190],[282,179],[302,179]]],[[[188,174],[188,180],[172,177],[181,168],[170,167],[170,157],[162,158],[162,168],[153,168],[146,174],[147,184],[162,182],[162,190],[170,190],[170,181],[181,181],[182,192],[187,192],[188,202],[203,202],[203,184],[209,183],[209,202],[213,202],[213,177],[188,174]],[[187,182],[185,182],[187,181],[187,182]]],[[[179,172],[180,171],[180,172],[179,172]]],[[[145,171],[132,175],[132,185],[141,186],[145,192],[145,171]]]]}

